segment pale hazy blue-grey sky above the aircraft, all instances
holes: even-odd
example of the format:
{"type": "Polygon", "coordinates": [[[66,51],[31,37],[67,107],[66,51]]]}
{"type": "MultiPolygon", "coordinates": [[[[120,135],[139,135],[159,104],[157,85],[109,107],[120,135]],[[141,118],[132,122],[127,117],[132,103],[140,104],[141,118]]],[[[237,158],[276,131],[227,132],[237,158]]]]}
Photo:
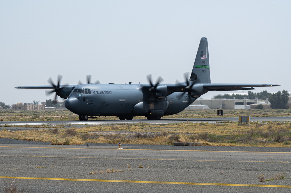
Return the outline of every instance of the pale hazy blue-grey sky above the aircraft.
{"type": "MultiPolygon", "coordinates": [[[[201,37],[212,83],[271,83],[290,88],[291,1],[3,1],[0,64],[6,104],[45,101],[62,83],[164,83],[190,72],[201,37]]],[[[237,93],[243,91],[237,91],[237,93]]],[[[247,91],[245,91],[247,92],[247,91]]],[[[227,92],[208,92],[202,98],[227,92]]],[[[60,99],[60,98],[58,98],[60,99]]]]}

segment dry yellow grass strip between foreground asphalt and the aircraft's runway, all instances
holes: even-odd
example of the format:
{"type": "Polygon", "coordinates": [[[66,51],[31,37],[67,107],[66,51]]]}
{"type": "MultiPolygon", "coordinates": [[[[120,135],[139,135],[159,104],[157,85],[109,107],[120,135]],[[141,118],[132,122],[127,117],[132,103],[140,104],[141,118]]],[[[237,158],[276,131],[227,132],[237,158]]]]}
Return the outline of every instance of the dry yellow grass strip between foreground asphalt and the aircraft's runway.
{"type": "Polygon", "coordinates": [[[0,131],[1,138],[45,141],[52,145],[85,143],[173,145],[200,142],[208,146],[291,147],[290,122],[179,123],[96,125],[76,129],[0,131]]]}

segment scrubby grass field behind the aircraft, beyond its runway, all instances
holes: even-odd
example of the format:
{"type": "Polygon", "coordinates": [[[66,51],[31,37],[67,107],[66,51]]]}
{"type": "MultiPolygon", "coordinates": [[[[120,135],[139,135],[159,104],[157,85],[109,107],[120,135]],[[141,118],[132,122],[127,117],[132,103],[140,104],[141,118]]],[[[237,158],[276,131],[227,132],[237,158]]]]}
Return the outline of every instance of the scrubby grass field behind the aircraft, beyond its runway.
{"type": "MultiPolygon", "coordinates": [[[[217,116],[214,109],[185,109],[184,111],[163,118],[211,118],[217,116]],[[187,114],[187,117],[186,117],[187,114]]],[[[225,109],[223,117],[238,116],[291,116],[291,109],[225,109]]],[[[96,120],[116,120],[118,117],[97,117],[96,120]]],[[[145,119],[136,116],[134,119],[145,119]]],[[[0,110],[1,121],[51,121],[51,120],[79,120],[78,115],[66,109],[49,109],[45,111],[0,110]]]]}

